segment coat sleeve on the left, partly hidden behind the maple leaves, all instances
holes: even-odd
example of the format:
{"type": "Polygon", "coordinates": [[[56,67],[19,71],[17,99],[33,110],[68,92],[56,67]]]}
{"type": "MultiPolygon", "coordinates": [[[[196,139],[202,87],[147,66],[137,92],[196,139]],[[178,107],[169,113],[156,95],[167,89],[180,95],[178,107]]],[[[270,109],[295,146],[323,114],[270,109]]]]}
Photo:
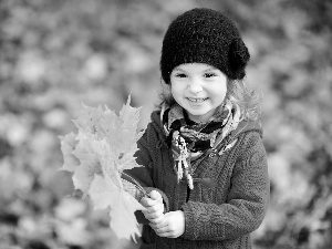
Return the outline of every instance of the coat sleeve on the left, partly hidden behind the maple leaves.
{"type": "MultiPolygon", "coordinates": [[[[151,133],[153,133],[154,129],[152,127],[152,124],[149,124],[144,133],[144,135],[139,138],[137,142],[138,151],[135,153],[136,162],[138,165],[143,167],[135,167],[132,169],[124,170],[127,175],[133,177],[147,193],[151,193],[152,190],[157,190],[162,197],[165,205],[165,211],[168,210],[168,198],[167,196],[159,189],[155,187],[155,183],[153,180],[154,175],[154,168],[153,168],[153,158],[152,158],[152,147],[155,145],[151,145],[149,143],[149,136],[151,133]]],[[[144,194],[139,193],[137,195],[137,200],[139,201],[144,197],[144,194]]],[[[141,210],[137,210],[135,212],[135,216],[137,218],[137,221],[139,224],[148,224],[149,221],[144,217],[143,212],[141,210]]]]}

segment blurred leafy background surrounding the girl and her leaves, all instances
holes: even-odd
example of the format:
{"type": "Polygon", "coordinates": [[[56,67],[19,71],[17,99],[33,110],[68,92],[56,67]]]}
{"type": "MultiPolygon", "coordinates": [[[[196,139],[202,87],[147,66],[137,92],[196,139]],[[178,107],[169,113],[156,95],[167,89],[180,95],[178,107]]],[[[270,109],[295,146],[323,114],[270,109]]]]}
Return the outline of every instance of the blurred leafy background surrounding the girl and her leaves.
{"type": "Polygon", "coordinates": [[[66,198],[59,136],[82,102],[118,111],[129,93],[144,128],[164,32],[195,7],[236,21],[263,94],[271,201],[253,248],[332,248],[331,0],[1,0],[1,249],[117,248],[104,212],[66,198]]]}

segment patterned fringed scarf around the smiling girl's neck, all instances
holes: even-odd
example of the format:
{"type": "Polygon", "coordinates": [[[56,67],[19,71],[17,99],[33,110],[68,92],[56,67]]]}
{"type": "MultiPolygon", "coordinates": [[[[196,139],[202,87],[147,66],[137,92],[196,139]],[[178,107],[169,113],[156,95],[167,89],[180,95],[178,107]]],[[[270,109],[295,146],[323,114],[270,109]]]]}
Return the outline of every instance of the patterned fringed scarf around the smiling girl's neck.
{"type": "Polygon", "coordinates": [[[216,148],[238,126],[240,116],[239,106],[230,102],[220,106],[206,123],[190,121],[178,104],[162,106],[160,118],[172,148],[178,181],[185,175],[189,188],[194,188],[191,159],[216,148]]]}

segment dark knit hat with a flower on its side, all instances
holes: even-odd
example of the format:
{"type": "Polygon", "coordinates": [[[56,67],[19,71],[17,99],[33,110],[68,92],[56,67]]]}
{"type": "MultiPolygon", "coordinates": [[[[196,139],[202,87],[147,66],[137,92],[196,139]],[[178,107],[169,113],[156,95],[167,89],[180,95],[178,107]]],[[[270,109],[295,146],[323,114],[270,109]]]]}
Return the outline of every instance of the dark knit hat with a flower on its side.
{"type": "Polygon", "coordinates": [[[165,83],[183,63],[206,63],[241,80],[250,54],[235,23],[216,10],[197,8],[177,17],[164,37],[160,71],[165,83]]]}

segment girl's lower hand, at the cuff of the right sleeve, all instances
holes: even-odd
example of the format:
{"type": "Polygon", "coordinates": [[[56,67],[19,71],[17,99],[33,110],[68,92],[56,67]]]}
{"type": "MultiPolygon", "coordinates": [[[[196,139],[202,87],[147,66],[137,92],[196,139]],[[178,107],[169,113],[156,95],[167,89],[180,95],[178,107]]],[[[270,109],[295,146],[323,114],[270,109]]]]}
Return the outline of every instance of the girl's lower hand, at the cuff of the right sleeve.
{"type": "Polygon", "coordinates": [[[149,226],[160,237],[177,238],[185,232],[185,214],[181,210],[169,211],[160,222],[149,226]]]}

